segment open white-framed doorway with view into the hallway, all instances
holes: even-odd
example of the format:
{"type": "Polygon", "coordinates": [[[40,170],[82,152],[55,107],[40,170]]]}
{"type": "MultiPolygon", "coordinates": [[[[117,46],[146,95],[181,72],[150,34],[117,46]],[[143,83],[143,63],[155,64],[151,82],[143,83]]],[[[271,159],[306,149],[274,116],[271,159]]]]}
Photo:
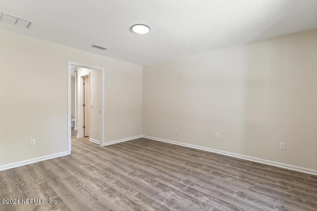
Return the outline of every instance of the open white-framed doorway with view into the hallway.
{"type": "MultiPolygon", "coordinates": [[[[89,141],[98,143],[103,146],[105,143],[105,84],[104,75],[105,69],[102,67],[96,67],[91,65],[80,64],[76,62],[68,62],[68,138],[67,148],[68,154],[71,154],[71,69],[77,67],[78,70],[88,71],[85,74],[78,71],[77,74],[77,102],[84,100],[81,106],[77,103],[77,119],[76,126],[77,135],[79,137],[89,137],[89,141]],[[84,85],[80,85],[79,82],[83,80],[84,85]],[[95,86],[92,86],[97,84],[95,86]],[[88,84],[88,85],[87,85],[88,84]],[[80,92],[82,91],[82,92],[80,92]],[[82,93],[79,95],[78,93],[82,93]],[[80,98],[80,99],[78,99],[80,98]],[[85,105],[85,107],[83,106],[85,105]],[[85,109],[84,109],[85,108],[85,109]],[[85,126],[85,128],[84,128],[85,126]]],[[[83,83],[82,83],[83,84],[83,83]]]]}

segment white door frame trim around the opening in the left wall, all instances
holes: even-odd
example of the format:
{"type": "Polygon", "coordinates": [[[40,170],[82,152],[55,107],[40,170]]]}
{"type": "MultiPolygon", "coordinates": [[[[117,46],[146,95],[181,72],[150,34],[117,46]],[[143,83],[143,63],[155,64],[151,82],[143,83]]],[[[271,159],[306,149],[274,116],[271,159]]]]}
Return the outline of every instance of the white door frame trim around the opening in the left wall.
{"type": "MultiPolygon", "coordinates": [[[[96,67],[92,65],[87,65],[87,64],[81,64],[77,62],[71,62],[68,61],[68,75],[67,75],[67,151],[68,155],[71,153],[71,66],[77,66],[77,67],[83,67],[83,68],[88,68],[88,69],[94,69],[101,71],[101,141],[100,141],[100,146],[103,146],[105,143],[105,83],[104,83],[104,77],[105,77],[105,68],[103,67],[96,67]]],[[[78,75],[77,75],[78,77],[78,75]]]]}

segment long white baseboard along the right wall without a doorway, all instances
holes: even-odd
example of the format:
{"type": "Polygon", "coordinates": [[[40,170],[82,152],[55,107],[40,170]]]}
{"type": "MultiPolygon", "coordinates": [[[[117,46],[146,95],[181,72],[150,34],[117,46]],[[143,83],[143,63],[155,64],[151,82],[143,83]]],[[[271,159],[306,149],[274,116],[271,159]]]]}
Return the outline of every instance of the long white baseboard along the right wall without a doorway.
{"type": "Polygon", "coordinates": [[[234,157],[234,158],[240,158],[240,159],[247,160],[247,161],[253,161],[253,162],[257,162],[257,163],[261,163],[261,164],[279,167],[279,168],[283,168],[283,169],[290,169],[290,170],[300,171],[303,173],[317,175],[317,170],[315,170],[315,169],[307,169],[304,167],[298,167],[298,166],[293,166],[293,165],[289,165],[289,164],[278,163],[275,161],[264,160],[261,158],[255,158],[255,157],[250,157],[250,156],[246,156],[246,155],[225,152],[225,151],[221,151],[221,150],[196,146],[196,145],[192,145],[192,144],[181,143],[181,142],[177,142],[177,141],[166,140],[166,139],[162,139],[162,138],[156,138],[156,137],[147,136],[147,135],[143,135],[143,138],[148,138],[148,139],[161,141],[161,142],[165,142],[165,143],[176,144],[176,145],[180,145],[180,146],[184,146],[184,147],[190,147],[190,148],[194,148],[194,149],[204,150],[204,151],[213,152],[213,153],[217,153],[217,154],[221,154],[221,155],[226,155],[226,156],[230,156],[230,157],[234,157]]]}

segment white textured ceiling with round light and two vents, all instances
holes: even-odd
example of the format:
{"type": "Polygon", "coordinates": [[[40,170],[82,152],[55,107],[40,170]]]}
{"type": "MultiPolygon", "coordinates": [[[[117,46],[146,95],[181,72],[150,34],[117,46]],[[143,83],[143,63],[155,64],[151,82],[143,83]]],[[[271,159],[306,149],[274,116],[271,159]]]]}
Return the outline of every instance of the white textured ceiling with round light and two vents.
{"type": "Polygon", "coordinates": [[[0,0],[0,12],[34,22],[2,30],[142,66],[317,29],[317,0],[0,0]]]}

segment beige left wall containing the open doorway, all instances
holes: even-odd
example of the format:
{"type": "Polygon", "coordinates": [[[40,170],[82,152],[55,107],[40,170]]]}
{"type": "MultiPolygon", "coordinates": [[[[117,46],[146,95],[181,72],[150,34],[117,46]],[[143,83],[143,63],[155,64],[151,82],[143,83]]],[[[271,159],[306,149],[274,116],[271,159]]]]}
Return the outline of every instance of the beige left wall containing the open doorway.
{"type": "Polygon", "coordinates": [[[67,151],[67,61],[105,68],[106,142],[142,134],[141,66],[6,31],[0,38],[0,166],[67,151]]]}

